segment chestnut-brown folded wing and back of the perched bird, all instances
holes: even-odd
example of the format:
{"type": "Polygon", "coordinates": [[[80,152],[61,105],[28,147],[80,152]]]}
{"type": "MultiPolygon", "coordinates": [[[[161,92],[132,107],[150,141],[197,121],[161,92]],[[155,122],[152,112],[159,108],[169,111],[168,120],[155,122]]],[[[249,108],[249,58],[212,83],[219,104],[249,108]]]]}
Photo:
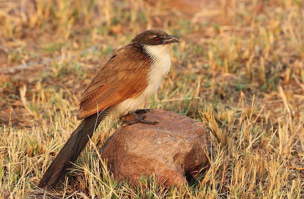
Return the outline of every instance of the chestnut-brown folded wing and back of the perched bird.
{"type": "Polygon", "coordinates": [[[147,87],[149,64],[145,54],[130,46],[117,50],[81,95],[77,119],[140,95],[147,87]]]}

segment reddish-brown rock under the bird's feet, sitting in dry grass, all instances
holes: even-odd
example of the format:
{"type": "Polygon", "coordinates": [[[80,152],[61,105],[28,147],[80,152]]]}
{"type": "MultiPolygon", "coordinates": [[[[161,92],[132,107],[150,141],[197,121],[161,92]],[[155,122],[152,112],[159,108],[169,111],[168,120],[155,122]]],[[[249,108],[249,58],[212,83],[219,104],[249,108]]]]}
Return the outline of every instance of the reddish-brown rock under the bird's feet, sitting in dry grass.
{"type": "Polygon", "coordinates": [[[115,177],[136,183],[155,173],[159,184],[180,187],[202,167],[209,168],[204,149],[214,151],[202,122],[159,109],[143,115],[159,124],[119,127],[100,149],[115,177]]]}

